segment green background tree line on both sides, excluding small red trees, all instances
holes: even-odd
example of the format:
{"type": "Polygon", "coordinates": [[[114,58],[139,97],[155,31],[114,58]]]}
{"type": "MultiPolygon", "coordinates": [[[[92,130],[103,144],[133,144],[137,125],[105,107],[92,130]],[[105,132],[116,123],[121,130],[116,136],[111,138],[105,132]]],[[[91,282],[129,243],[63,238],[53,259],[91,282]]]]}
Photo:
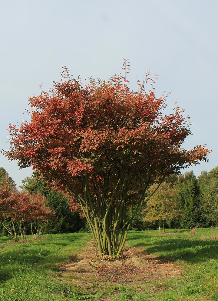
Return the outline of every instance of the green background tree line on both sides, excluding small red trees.
{"type": "MultiPolygon", "coordinates": [[[[11,190],[17,191],[14,180],[1,167],[0,188],[6,182],[11,190]]],[[[151,186],[148,193],[152,193],[156,186],[151,186]]],[[[44,224],[44,233],[71,233],[88,229],[80,213],[71,211],[68,198],[46,188],[46,183],[34,174],[22,181],[20,189],[23,193],[44,196],[46,206],[55,212],[55,217],[44,224]]],[[[131,210],[128,214],[131,214],[131,210]]],[[[8,234],[4,222],[5,217],[1,216],[1,235],[8,234]]],[[[167,177],[132,222],[132,229],[137,230],[157,229],[159,226],[163,231],[165,227],[218,226],[218,167],[210,172],[202,171],[197,178],[193,171],[167,177]]],[[[27,226],[25,231],[30,234],[31,227],[27,226]]]]}

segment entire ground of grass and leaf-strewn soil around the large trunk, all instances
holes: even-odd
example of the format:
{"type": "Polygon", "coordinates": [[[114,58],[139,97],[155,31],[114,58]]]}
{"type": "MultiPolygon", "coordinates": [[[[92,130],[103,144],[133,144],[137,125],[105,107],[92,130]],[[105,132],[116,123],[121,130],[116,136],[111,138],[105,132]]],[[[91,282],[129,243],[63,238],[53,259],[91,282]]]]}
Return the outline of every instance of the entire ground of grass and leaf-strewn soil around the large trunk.
{"type": "Polygon", "coordinates": [[[2,301],[216,301],[218,230],[130,231],[125,257],[94,270],[77,270],[81,258],[95,260],[91,233],[48,234],[23,243],[0,237],[2,301]],[[134,258],[141,259],[140,268],[134,258]],[[124,265],[124,262],[131,258],[124,265]],[[74,267],[74,270],[71,269],[74,267]]]}

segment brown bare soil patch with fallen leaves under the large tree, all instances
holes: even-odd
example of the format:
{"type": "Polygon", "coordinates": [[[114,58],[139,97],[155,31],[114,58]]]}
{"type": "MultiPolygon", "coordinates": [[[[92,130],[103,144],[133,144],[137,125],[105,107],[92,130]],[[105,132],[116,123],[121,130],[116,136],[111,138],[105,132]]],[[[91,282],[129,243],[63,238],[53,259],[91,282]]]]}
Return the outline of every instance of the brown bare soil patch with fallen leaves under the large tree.
{"type": "Polygon", "coordinates": [[[147,254],[142,248],[126,246],[123,255],[116,261],[99,259],[95,256],[94,241],[91,240],[68,265],[63,265],[62,280],[78,286],[149,280],[158,280],[161,285],[166,278],[178,277],[183,273],[176,263],[147,254]]]}

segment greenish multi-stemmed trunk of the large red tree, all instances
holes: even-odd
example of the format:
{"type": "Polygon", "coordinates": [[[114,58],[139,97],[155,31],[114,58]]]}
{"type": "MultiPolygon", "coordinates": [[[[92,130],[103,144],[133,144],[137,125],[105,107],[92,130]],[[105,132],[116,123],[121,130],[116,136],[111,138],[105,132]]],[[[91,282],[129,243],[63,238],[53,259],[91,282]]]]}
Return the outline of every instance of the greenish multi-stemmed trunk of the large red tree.
{"type": "Polygon", "coordinates": [[[87,176],[84,176],[81,180],[81,185],[84,187],[84,196],[78,195],[73,188],[72,190],[68,188],[68,191],[80,203],[96,242],[97,255],[107,259],[120,257],[131,220],[144,203],[144,194],[127,220],[127,210],[129,209],[127,206],[130,206],[130,202],[127,201],[128,187],[125,182],[121,185],[121,176],[118,177],[113,192],[106,191],[108,189],[106,184],[104,189],[102,187],[100,189],[98,182],[94,179],[93,181],[95,181],[96,186],[94,195],[89,191],[87,176]],[[106,192],[103,194],[100,191],[106,192]]]}

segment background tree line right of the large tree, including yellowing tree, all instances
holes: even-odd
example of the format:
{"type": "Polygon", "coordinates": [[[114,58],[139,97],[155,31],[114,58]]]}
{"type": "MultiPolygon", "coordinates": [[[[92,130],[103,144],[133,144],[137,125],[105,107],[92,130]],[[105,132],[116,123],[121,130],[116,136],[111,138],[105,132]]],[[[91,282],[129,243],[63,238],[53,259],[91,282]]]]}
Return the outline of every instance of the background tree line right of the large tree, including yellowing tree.
{"type": "MultiPolygon", "coordinates": [[[[151,193],[156,185],[150,187],[151,193]]],[[[218,226],[218,167],[171,175],[132,222],[137,230],[218,226]]]]}

